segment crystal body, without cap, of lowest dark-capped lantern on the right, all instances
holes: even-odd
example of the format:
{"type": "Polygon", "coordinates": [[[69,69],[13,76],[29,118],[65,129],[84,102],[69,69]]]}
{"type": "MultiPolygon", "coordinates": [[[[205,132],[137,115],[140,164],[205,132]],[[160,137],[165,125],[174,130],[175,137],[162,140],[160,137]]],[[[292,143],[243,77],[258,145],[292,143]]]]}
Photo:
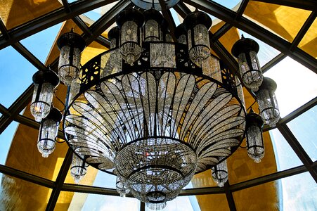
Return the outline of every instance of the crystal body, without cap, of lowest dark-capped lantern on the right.
{"type": "Polygon", "coordinates": [[[247,129],[247,155],[257,163],[264,157],[262,130],[257,124],[247,129]]]}

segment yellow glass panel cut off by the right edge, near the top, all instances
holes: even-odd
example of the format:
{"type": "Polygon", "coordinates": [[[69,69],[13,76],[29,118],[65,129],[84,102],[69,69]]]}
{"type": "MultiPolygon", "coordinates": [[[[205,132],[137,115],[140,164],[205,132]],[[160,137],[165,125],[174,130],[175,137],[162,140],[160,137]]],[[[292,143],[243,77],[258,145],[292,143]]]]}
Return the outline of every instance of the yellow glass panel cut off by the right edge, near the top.
{"type": "Polygon", "coordinates": [[[303,37],[302,41],[299,43],[299,48],[309,53],[314,58],[317,58],[317,19],[313,21],[313,24],[306,32],[305,36],[303,37]]]}

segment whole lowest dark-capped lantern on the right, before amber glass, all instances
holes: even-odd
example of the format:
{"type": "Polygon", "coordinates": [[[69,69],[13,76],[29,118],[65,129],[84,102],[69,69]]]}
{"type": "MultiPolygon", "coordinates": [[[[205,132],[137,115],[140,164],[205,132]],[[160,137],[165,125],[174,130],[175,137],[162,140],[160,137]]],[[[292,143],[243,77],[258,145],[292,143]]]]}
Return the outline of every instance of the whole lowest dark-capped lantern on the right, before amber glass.
{"type": "Polygon", "coordinates": [[[254,113],[252,108],[246,117],[246,138],[247,138],[247,155],[254,160],[254,162],[261,162],[264,157],[264,141],[262,136],[262,127],[264,125],[261,117],[254,113]]]}

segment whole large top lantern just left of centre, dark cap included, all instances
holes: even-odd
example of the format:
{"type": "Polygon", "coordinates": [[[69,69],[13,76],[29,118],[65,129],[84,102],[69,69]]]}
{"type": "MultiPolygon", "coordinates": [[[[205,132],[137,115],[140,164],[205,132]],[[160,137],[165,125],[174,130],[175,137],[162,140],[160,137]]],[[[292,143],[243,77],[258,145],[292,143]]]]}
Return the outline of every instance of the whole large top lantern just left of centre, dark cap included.
{"type": "Polygon", "coordinates": [[[141,29],[144,17],[140,11],[128,8],[117,15],[117,25],[121,29],[120,50],[126,63],[133,65],[141,56],[141,29]]]}

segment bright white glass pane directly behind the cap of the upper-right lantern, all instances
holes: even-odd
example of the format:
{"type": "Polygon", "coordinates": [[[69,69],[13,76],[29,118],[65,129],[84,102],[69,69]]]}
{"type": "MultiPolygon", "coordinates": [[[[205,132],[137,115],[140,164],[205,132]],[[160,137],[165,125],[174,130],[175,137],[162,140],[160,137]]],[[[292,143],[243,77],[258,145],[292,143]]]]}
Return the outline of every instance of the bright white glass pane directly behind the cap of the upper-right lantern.
{"type": "Polygon", "coordinates": [[[263,67],[266,63],[268,63],[270,60],[272,60],[274,57],[278,56],[280,54],[280,51],[274,49],[273,47],[269,46],[265,42],[253,37],[250,34],[247,34],[246,32],[243,32],[242,30],[238,30],[240,37],[243,34],[245,38],[253,39],[254,41],[259,44],[260,49],[259,53],[257,53],[257,57],[259,58],[259,63],[261,67],[263,67]]]}

